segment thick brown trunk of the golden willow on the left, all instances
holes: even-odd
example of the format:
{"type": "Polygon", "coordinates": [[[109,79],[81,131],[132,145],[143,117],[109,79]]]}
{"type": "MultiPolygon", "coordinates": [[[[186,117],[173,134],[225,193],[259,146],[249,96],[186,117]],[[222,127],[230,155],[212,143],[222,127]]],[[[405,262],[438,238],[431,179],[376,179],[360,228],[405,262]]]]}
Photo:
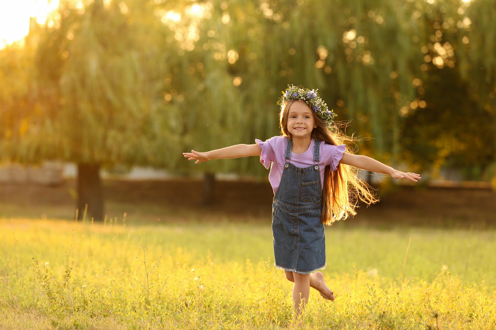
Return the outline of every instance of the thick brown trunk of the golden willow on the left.
{"type": "Polygon", "coordinates": [[[87,206],[86,219],[103,220],[103,191],[100,164],[77,164],[77,219],[81,220],[87,206]]]}

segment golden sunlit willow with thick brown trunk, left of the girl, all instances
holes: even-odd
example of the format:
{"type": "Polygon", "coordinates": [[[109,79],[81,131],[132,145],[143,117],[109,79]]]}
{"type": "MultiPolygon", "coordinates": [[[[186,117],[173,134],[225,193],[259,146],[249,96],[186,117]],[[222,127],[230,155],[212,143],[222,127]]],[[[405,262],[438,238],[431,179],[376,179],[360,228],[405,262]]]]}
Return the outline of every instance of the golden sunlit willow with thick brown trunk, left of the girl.
{"type": "Polygon", "coordinates": [[[163,140],[176,137],[161,126],[154,97],[153,8],[126,3],[61,1],[41,28],[36,104],[21,119],[27,130],[20,145],[10,149],[24,162],[76,163],[79,215],[87,204],[96,220],[104,216],[100,169],[153,163],[167,157],[168,150],[154,152],[163,140]]]}

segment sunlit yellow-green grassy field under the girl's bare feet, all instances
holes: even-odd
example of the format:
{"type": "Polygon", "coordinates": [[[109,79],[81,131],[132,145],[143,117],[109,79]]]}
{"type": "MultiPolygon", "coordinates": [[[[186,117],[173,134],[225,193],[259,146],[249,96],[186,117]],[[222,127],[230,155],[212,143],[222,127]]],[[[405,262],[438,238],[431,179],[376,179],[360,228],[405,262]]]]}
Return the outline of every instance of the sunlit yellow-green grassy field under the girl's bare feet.
{"type": "MultiPolygon", "coordinates": [[[[203,220],[0,220],[0,329],[293,329],[270,223],[203,220]]],[[[303,328],[496,329],[495,230],[350,224],[303,328]]]]}

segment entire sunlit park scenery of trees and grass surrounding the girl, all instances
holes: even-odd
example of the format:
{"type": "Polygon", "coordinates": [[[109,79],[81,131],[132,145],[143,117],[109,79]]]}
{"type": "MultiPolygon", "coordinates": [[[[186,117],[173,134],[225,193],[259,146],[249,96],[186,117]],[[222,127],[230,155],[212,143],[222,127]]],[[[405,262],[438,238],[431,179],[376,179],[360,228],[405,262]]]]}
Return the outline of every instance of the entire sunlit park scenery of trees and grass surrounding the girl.
{"type": "Polygon", "coordinates": [[[360,174],[308,328],[493,329],[494,3],[0,0],[0,329],[293,329],[268,170],[182,154],[280,135],[288,84],[422,176],[360,174]]]}

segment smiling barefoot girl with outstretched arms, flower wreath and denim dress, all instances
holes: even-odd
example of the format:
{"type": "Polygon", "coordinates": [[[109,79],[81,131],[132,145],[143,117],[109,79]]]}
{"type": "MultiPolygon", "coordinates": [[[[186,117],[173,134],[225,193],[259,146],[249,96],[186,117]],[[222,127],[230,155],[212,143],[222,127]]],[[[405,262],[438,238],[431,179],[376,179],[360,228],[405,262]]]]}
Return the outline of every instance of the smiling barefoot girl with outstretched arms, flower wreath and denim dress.
{"type": "Polygon", "coordinates": [[[275,267],[294,282],[293,301],[299,316],[310,287],[325,299],[334,294],[321,272],[325,263],[324,224],[356,214],[357,197],[367,204],[377,199],[357,175],[357,168],[414,182],[404,173],[367,156],[352,154],[341,142],[351,141],[333,123],[335,114],[316,90],[288,85],[280,98],[282,136],[255,144],[237,144],[208,152],[185,152],[195,164],[211,159],[260,155],[274,190],[272,233],[275,267]]]}

